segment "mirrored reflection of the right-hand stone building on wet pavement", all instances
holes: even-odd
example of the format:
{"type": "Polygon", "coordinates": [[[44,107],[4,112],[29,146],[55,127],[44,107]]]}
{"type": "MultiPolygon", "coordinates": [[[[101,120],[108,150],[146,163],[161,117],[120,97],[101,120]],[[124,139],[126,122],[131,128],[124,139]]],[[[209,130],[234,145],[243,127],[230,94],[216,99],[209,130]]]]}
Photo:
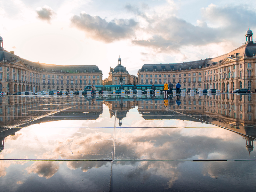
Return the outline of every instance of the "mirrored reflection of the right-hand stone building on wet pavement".
{"type": "Polygon", "coordinates": [[[186,95],[168,98],[168,105],[162,98],[152,98],[147,101],[137,101],[139,113],[144,119],[180,119],[200,122],[213,123],[222,127],[241,133],[240,135],[246,140],[246,149],[251,152],[253,150],[253,138],[256,138],[256,117],[254,115],[256,100],[254,94],[221,94],[221,95],[203,95],[194,96],[186,95]],[[171,110],[166,110],[166,108],[171,110]],[[181,112],[185,115],[180,116],[175,112],[181,112]],[[146,113],[145,113],[146,112],[146,113]]]}

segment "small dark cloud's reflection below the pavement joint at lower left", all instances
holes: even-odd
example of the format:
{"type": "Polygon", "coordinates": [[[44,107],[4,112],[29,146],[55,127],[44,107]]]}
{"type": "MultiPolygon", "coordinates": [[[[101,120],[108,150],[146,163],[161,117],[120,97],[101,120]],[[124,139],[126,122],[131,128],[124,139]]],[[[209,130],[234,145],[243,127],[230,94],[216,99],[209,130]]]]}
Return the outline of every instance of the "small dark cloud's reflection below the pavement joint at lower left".
{"type": "Polygon", "coordinates": [[[36,161],[26,168],[28,174],[37,173],[39,177],[51,178],[59,169],[59,163],[54,161],[36,161]]]}

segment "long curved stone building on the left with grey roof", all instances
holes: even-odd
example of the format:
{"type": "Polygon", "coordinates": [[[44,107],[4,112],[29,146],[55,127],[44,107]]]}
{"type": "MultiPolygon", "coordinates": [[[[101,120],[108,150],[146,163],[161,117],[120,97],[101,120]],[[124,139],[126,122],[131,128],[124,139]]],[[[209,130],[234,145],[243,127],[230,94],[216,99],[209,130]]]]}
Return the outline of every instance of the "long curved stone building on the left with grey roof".
{"type": "Polygon", "coordinates": [[[92,84],[102,84],[102,71],[96,65],[52,65],[25,60],[4,50],[0,36],[0,91],[73,91],[92,84]]]}

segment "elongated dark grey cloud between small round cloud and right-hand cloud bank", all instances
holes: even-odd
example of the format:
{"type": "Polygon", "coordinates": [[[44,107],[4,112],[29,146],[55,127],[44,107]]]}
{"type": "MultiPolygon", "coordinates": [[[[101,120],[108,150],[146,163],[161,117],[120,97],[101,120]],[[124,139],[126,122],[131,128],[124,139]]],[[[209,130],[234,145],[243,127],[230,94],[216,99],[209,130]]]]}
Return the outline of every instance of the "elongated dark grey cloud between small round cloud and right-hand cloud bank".
{"type": "Polygon", "coordinates": [[[93,39],[106,43],[131,38],[138,24],[133,19],[114,19],[108,22],[99,16],[86,13],[73,16],[71,22],[93,39]]]}

